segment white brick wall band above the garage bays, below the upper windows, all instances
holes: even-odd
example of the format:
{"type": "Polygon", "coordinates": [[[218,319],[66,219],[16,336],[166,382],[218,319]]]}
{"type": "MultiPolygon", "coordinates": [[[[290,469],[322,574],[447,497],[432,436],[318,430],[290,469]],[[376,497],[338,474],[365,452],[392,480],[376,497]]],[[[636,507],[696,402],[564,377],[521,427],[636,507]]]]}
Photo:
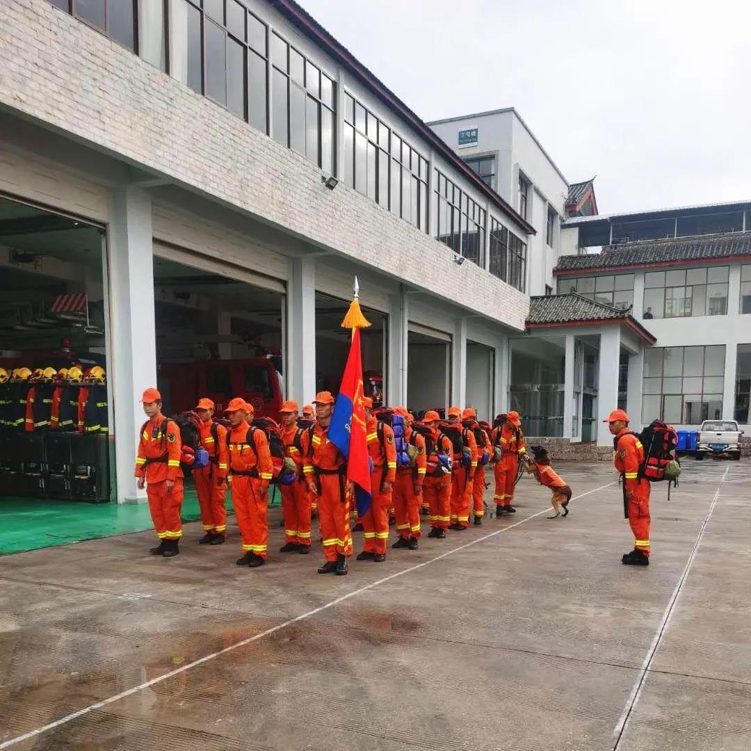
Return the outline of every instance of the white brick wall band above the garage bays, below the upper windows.
{"type": "Polygon", "coordinates": [[[529,298],[46,0],[0,2],[0,106],[493,321],[529,298]]]}

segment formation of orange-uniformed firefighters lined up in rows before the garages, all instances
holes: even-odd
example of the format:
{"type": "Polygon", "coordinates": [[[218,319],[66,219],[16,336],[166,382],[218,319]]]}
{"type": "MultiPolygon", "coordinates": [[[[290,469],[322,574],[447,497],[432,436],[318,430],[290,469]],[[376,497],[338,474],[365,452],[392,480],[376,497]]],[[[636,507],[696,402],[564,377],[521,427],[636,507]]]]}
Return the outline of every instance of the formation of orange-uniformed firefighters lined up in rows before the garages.
{"type": "MultiPolygon", "coordinates": [[[[182,440],[175,421],[161,414],[157,389],[146,389],[142,403],[149,420],[141,430],[135,475],[138,487],[147,487],[159,538],[150,552],[171,557],[179,553],[182,536],[182,440]]],[[[285,402],[280,410],[285,461],[294,466],[294,480],[281,485],[285,544],[280,552],[309,553],[311,517],[317,510],[326,558],[318,573],[345,575],[352,554],[351,512],[356,511],[353,488],[346,481],[345,457],[327,437],[334,403],[330,392],[319,392],[313,406],[303,409],[307,422],[300,420],[293,401],[285,402]]],[[[367,397],[364,406],[372,501],[356,520],[363,530],[358,560],[385,560],[391,514],[396,517],[398,537],[391,547],[409,550],[418,547],[421,513],[427,514],[430,538],[445,538],[447,529],[466,529],[472,515],[474,523],[481,524],[486,467],[491,463],[496,516],[514,514],[514,484],[526,451],[516,412],[502,416],[491,427],[479,423],[471,408],[451,407],[446,421],[430,411],[417,422],[404,407],[376,412],[367,397]],[[394,420],[394,415],[401,419],[394,420]],[[400,427],[391,427],[391,422],[400,427]]],[[[195,408],[201,445],[209,455],[206,466],[192,470],[205,531],[199,542],[225,542],[229,486],[242,538],[243,555],[237,565],[263,566],[268,488],[275,479],[270,440],[264,430],[252,425],[254,408],[243,399],[231,400],[225,409],[228,427],[214,420],[213,411],[209,399],[199,400],[195,408]]]]}

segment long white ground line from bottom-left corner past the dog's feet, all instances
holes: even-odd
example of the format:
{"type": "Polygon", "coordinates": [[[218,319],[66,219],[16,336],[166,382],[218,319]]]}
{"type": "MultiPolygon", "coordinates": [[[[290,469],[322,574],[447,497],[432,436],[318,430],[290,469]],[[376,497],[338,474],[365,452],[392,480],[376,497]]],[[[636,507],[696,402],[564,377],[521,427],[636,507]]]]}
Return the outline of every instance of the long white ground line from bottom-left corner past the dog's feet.
{"type": "MultiPolygon", "coordinates": [[[[584,498],[584,496],[589,496],[592,493],[597,493],[599,490],[605,490],[606,487],[610,487],[613,484],[615,483],[609,482],[606,485],[601,485],[600,487],[595,487],[592,490],[587,490],[586,493],[581,493],[581,495],[574,496],[572,498],[572,501],[578,500],[580,498],[584,498]]],[[[0,743],[0,749],[6,749],[10,746],[14,746],[16,743],[22,743],[24,740],[29,740],[29,738],[33,738],[37,735],[41,735],[42,733],[47,732],[48,730],[59,728],[60,725],[66,725],[68,722],[71,722],[72,720],[77,719],[85,714],[88,714],[89,712],[93,712],[94,710],[98,710],[98,709],[101,709],[102,707],[106,707],[107,704],[113,704],[115,701],[119,701],[120,699],[127,698],[128,696],[131,696],[139,691],[143,691],[143,689],[147,689],[149,688],[149,686],[154,686],[156,683],[161,683],[162,681],[168,680],[169,678],[179,675],[180,673],[184,673],[185,671],[188,671],[191,668],[196,668],[198,667],[198,665],[203,665],[204,662],[210,662],[210,660],[216,659],[217,657],[221,657],[222,655],[225,655],[229,652],[233,652],[234,650],[237,650],[240,647],[246,647],[248,644],[252,644],[254,641],[258,641],[259,639],[262,639],[265,636],[270,636],[271,634],[274,634],[278,631],[282,631],[282,629],[286,629],[288,626],[292,626],[294,623],[298,623],[301,620],[305,620],[306,618],[309,618],[318,613],[321,613],[322,611],[328,610],[329,608],[333,608],[335,605],[339,605],[340,602],[345,602],[345,600],[356,597],[357,595],[360,595],[363,592],[367,592],[368,590],[372,590],[375,587],[379,587],[381,584],[385,584],[387,581],[391,581],[392,579],[396,579],[400,576],[404,576],[413,571],[417,571],[418,569],[422,569],[424,568],[424,566],[429,566],[431,563],[435,563],[436,561],[447,558],[448,556],[451,556],[454,553],[458,553],[460,550],[465,550],[467,547],[472,547],[472,545],[476,545],[478,544],[478,542],[484,542],[485,540],[489,540],[490,538],[495,537],[496,535],[500,535],[503,532],[508,532],[509,529],[514,529],[514,527],[517,527],[520,524],[523,524],[531,519],[535,519],[535,517],[541,516],[541,514],[547,514],[548,511],[550,511],[550,508],[547,508],[547,507],[543,508],[541,511],[538,511],[536,514],[531,514],[528,517],[524,517],[523,519],[517,522],[514,522],[513,524],[509,524],[508,526],[503,527],[503,529],[496,529],[495,532],[490,532],[487,535],[482,535],[482,537],[478,537],[474,540],[470,540],[469,542],[466,542],[465,544],[460,545],[459,547],[453,547],[451,548],[451,550],[446,550],[445,553],[441,553],[439,556],[435,556],[434,558],[431,558],[427,561],[417,563],[415,564],[415,566],[409,566],[408,569],[403,569],[402,571],[395,572],[394,574],[385,576],[382,579],[373,581],[370,584],[366,584],[364,587],[360,587],[357,590],[354,590],[345,595],[337,597],[336,599],[331,600],[331,602],[327,602],[325,605],[321,605],[318,608],[313,608],[313,610],[311,611],[307,611],[306,613],[298,615],[294,618],[285,620],[284,623],[279,623],[279,625],[277,626],[272,626],[270,629],[266,629],[265,631],[262,631],[253,636],[249,636],[248,638],[243,639],[242,641],[238,641],[236,644],[230,644],[229,647],[225,647],[222,650],[219,650],[217,652],[212,652],[211,654],[205,655],[203,657],[199,657],[198,659],[193,660],[193,662],[189,662],[187,665],[182,665],[179,668],[175,668],[175,670],[170,670],[169,672],[164,673],[163,675],[159,675],[155,678],[152,678],[151,680],[146,680],[144,683],[139,683],[137,686],[133,686],[131,689],[126,689],[125,691],[122,691],[119,694],[115,694],[106,699],[102,699],[101,701],[97,701],[95,702],[95,704],[89,704],[88,707],[84,707],[83,709],[77,710],[77,712],[73,712],[71,714],[68,714],[65,717],[56,719],[54,722],[50,722],[47,725],[43,725],[41,728],[36,728],[35,730],[30,730],[28,733],[24,733],[23,735],[19,735],[14,738],[9,738],[8,740],[4,740],[2,743],[0,743]]]]}

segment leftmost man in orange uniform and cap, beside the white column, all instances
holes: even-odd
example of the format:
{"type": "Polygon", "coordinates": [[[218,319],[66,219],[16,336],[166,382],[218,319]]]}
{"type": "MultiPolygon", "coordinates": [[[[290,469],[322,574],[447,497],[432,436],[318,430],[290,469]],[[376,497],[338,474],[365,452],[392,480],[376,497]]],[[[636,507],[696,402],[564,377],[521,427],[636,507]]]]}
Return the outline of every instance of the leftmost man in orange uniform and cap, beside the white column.
{"type": "Polygon", "coordinates": [[[141,403],[149,419],[140,432],[135,476],[139,490],[146,486],[149,511],[159,538],[159,544],[149,553],[171,558],[179,553],[182,537],[182,441],[176,423],[161,414],[161,394],[155,388],[143,392],[141,403]]]}

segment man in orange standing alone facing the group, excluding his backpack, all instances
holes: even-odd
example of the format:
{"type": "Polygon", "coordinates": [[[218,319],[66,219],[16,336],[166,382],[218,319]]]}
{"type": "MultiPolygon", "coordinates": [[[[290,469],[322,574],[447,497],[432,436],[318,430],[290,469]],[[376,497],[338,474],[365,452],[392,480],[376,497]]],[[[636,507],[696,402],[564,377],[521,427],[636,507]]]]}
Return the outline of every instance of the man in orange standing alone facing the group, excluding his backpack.
{"type": "Polygon", "coordinates": [[[614,409],[607,420],[615,436],[614,464],[623,479],[623,506],[634,533],[634,549],[621,561],[627,566],[650,565],[650,481],[639,477],[644,462],[644,446],[638,436],[629,431],[631,418],[623,409],[614,409]]]}

